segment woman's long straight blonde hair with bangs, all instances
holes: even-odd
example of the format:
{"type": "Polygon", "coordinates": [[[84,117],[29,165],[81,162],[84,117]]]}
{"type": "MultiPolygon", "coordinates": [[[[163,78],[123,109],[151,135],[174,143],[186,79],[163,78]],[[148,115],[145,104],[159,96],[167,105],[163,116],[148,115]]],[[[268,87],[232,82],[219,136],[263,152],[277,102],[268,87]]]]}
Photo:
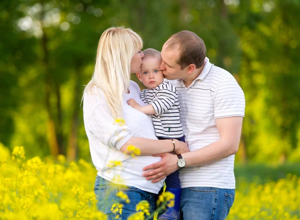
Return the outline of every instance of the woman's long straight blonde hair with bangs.
{"type": "Polygon", "coordinates": [[[142,39],[130,28],[110,27],[99,39],[94,72],[83,96],[85,92],[92,93],[93,86],[98,86],[113,118],[122,118],[122,95],[129,89],[130,62],[141,48],[142,39]]]}

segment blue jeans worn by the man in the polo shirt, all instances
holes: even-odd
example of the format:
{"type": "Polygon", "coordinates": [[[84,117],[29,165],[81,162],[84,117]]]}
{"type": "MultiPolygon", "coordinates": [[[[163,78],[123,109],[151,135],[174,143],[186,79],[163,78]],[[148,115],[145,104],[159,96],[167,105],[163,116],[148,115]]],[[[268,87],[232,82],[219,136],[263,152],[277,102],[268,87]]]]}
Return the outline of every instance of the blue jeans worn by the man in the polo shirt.
{"type": "Polygon", "coordinates": [[[214,187],[182,188],[180,215],[184,220],[223,220],[229,213],[235,190],[214,187]]]}

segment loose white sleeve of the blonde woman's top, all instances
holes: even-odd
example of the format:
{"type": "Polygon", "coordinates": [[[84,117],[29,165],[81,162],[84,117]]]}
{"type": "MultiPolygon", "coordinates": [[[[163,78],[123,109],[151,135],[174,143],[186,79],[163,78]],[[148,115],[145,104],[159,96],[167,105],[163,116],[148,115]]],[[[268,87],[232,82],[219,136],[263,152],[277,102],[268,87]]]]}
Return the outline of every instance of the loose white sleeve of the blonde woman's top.
{"type": "Polygon", "coordinates": [[[113,119],[106,102],[98,102],[88,116],[89,132],[101,143],[118,150],[130,139],[132,130],[122,119],[113,119]]]}

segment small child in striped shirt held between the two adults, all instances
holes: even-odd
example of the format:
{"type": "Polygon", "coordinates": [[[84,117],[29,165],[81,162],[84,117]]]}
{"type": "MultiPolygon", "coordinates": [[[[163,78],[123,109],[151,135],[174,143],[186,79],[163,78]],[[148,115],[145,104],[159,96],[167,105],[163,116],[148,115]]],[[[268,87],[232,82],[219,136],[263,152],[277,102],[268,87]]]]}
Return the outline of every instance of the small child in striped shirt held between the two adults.
{"type": "MultiPolygon", "coordinates": [[[[184,141],[183,129],[180,122],[180,106],[176,88],[168,81],[163,81],[163,74],[159,69],[161,64],[160,52],[148,48],[142,51],[144,57],[141,72],[137,78],[147,87],[140,94],[141,100],[147,104],[140,106],[134,99],[127,103],[145,114],[151,114],[154,129],[158,139],[178,139],[184,141]]],[[[165,179],[166,190],[175,194],[172,208],[168,208],[158,219],[179,219],[180,181],[179,172],[169,174],[165,179]]]]}

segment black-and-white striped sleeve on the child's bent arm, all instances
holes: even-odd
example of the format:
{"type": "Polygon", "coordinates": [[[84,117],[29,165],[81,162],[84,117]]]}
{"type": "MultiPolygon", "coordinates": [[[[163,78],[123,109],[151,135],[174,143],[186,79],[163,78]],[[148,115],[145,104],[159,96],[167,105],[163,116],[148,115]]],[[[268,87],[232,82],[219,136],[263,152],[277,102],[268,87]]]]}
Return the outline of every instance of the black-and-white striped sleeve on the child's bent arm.
{"type": "Polygon", "coordinates": [[[156,114],[159,115],[167,111],[175,103],[176,97],[176,88],[169,83],[163,83],[158,86],[155,101],[150,102],[150,104],[152,104],[156,114]]]}

